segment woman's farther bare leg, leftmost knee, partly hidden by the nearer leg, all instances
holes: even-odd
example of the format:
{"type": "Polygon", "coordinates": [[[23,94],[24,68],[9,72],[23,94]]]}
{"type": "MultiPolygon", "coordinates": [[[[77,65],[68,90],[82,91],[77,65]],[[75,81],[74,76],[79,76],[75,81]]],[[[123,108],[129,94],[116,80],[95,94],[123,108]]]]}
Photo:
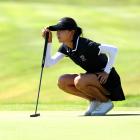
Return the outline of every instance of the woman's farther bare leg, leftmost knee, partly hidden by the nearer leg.
{"type": "Polygon", "coordinates": [[[74,79],[77,76],[77,74],[64,74],[60,76],[58,80],[58,87],[63,91],[73,94],[75,96],[79,96],[90,101],[94,100],[94,97],[92,95],[84,94],[75,87],[74,79]]]}

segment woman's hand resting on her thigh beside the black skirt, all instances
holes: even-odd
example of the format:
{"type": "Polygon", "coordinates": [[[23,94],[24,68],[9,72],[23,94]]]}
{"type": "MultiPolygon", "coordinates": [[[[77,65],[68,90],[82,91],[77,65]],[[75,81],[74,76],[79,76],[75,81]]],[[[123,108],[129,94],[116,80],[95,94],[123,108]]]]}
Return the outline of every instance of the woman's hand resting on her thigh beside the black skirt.
{"type": "Polygon", "coordinates": [[[98,72],[97,75],[98,75],[97,77],[98,77],[99,82],[101,84],[105,84],[108,79],[109,74],[106,72],[98,72]]]}

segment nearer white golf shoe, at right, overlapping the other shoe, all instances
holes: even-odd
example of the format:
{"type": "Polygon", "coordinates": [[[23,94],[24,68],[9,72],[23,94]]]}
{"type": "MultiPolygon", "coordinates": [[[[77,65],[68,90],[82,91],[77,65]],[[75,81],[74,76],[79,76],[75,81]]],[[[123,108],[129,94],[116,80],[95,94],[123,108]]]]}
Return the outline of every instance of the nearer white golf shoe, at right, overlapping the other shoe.
{"type": "Polygon", "coordinates": [[[113,107],[114,105],[111,100],[108,100],[107,102],[100,102],[100,105],[96,106],[95,110],[92,111],[91,116],[104,116],[113,107]]]}

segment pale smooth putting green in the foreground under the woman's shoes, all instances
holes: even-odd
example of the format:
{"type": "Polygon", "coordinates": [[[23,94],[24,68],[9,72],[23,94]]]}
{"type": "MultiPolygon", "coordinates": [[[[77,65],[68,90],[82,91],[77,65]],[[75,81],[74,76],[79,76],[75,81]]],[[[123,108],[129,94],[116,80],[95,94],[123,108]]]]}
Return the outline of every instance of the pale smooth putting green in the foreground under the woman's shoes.
{"type": "Polygon", "coordinates": [[[2,140],[138,140],[140,111],[111,111],[107,116],[83,117],[83,111],[0,112],[2,140]]]}

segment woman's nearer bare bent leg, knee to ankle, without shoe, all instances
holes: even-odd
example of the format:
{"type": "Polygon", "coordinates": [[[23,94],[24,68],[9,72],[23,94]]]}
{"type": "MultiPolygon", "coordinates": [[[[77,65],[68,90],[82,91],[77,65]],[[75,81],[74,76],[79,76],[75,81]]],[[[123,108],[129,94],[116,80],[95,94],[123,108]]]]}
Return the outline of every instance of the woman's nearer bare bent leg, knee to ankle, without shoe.
{"type": "Polygon", "coordinates": [[[106,102],[108,91],[102,87],[95,74],[80,74],[74,79],[76,89],[96,100],[106,102]]]}

